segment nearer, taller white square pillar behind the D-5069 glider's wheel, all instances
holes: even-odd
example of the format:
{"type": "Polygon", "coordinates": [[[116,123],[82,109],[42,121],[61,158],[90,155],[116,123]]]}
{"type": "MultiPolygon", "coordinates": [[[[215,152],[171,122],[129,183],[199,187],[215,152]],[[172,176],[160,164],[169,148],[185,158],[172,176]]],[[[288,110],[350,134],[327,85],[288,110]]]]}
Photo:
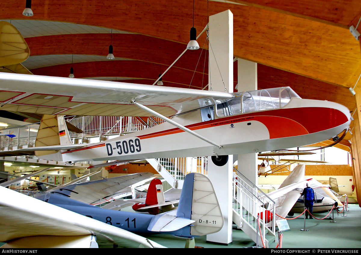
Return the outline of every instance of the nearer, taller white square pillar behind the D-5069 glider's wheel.
{"type": "MultiPolygon", "coordinates": [[[[233,14],[230,10],[209,17],[209,86],[213,91],[233,92],[233,14]],[[212,81],[212,82],[211,82],[212,81]]],[[[225,223],[207,241],[232,242],[232,167],[233,155],[224,166],[208,157],[208,178],[212,181],[225,223]]]]}

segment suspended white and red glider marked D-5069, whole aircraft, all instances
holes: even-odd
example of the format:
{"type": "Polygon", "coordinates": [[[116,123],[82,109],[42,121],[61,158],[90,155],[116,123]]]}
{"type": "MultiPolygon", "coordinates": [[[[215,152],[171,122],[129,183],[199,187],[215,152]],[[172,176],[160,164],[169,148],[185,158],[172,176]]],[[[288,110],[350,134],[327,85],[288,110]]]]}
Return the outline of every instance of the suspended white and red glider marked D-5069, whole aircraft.
{"type": "Polygon", "coordinates": [[[289,87],[225,93],[0,73],[0,95],[7,102],[3,110],[44,114],[35,147],[0,155],[32,150],[63,162],[212,156],[222,166],[229,154],[330,139],[351,122],[346,107],[301,99],[289,87]],[[158,116],[166,122],[100,143],[72,144],[62,115],[158,116]]]}

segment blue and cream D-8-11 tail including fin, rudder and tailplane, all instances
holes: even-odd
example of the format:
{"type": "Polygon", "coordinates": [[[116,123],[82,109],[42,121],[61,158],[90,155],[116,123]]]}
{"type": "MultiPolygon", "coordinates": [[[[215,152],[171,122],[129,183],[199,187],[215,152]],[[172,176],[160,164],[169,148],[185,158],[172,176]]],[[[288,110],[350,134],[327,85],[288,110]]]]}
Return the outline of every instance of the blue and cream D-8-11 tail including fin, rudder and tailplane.
{"type": "Polygon", "coordinates": [[[184,238],[216,233],[223,227],[223,215],[213,185],[203,174],[187,174],[177,213],[154,216],[148,230],[171,232],[184,238]]]}

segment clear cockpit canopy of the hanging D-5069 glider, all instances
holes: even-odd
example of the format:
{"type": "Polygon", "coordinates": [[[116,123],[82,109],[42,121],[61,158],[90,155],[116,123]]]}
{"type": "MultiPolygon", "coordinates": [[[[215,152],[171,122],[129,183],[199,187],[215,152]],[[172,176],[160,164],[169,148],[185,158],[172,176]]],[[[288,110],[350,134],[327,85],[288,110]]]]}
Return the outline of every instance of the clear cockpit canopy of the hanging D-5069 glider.
{"type": "Polygon", "coordinates": [[[233,94],[235,95],[234,98],[216,105],[218,117],[279,109],[287,105],[291,98],[301,98],[290,87],[261,89],[233,94]]]}

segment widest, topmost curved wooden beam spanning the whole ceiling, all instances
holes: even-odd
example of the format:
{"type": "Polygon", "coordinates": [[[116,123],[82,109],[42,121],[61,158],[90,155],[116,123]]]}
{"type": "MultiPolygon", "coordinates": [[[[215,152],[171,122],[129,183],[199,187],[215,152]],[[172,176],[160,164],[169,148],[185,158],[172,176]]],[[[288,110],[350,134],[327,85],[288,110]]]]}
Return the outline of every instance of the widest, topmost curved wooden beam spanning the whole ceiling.
{"type": "MultiPolygon", "coordinates": [[[[195,2],[198,33],[209,15],[234,14],[234,55],[316,80],[351,87],[361,73],[360,44],[348,29],[272,10],[219,2],[195,2]]],[[[295,7],[303,8],[305,4],[295,7]]],[[[24,19],[23,6],[0,3],[1,19],[24,19]]],[[[193,23],[193,1],[69,1],[32,3],[27,19],[102,26],[186,44],[193,23]],[[162,13],[162,18],[159,18],[162,13]]],[[[203,44],[205,35],[199,39],[203,44]]]]}

